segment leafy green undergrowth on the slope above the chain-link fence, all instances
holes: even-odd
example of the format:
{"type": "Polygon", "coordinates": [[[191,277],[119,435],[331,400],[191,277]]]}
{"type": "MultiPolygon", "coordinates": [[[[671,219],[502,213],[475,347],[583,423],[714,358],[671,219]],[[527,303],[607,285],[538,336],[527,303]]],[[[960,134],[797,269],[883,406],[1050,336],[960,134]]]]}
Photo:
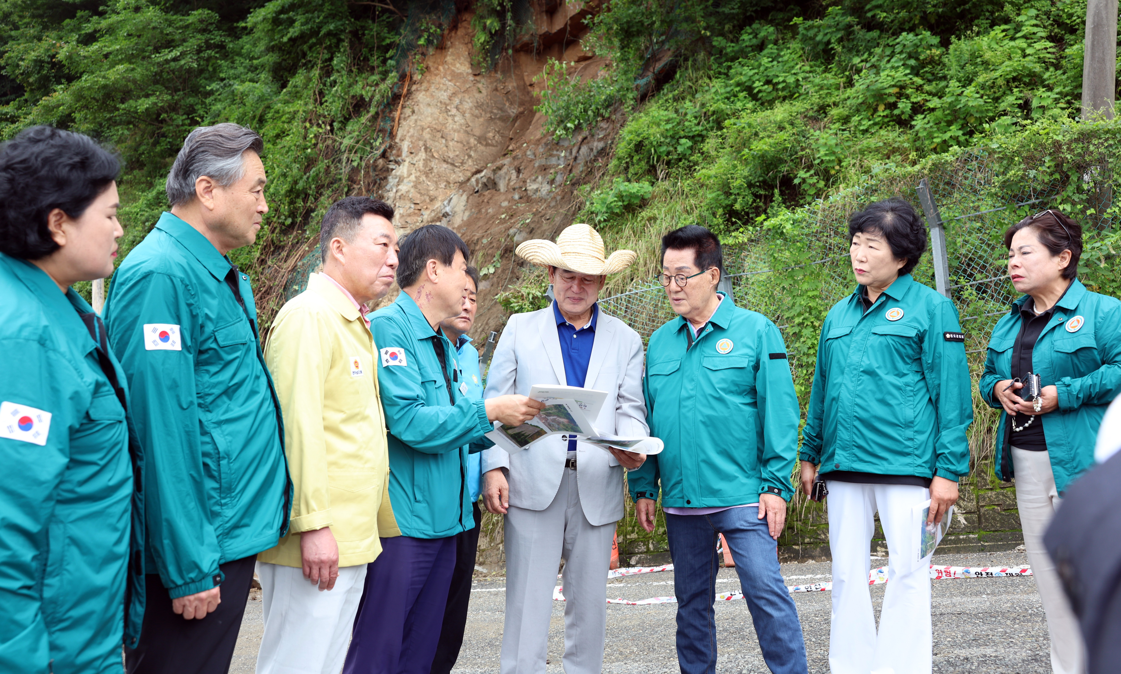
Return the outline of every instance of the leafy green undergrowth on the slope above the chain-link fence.
{"type": "Polygon", "coordinates": [[[596,17],[589,41],[614,71],[554,87],[539,110],[554,132],[590,123],[604,108],[597,82],[641,86],[659,48],[674,48],[676,76],[628,119],[611,172],[685,181],[679,220],[722,233],[873,169],[1072,119],[1081,95],[1084,1],[741,2],[733,21],[716,11],[725,3],[693,0],[684,15],[696,21],[651,43],[664,22],[656,4],[617,0],[596,17]]]}

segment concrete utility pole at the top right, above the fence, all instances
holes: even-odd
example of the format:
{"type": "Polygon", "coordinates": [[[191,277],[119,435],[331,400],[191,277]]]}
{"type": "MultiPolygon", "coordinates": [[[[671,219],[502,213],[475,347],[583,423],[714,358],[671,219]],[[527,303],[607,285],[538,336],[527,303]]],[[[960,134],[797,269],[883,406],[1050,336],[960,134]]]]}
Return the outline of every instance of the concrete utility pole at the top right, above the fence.
{"type": "Polygon", "coordinates": [[[1113,119],[1117,100],[1118,0],[1086,3],[1086,50],[1082,59],[1082,119],[1102,111],[1113,119]]]}

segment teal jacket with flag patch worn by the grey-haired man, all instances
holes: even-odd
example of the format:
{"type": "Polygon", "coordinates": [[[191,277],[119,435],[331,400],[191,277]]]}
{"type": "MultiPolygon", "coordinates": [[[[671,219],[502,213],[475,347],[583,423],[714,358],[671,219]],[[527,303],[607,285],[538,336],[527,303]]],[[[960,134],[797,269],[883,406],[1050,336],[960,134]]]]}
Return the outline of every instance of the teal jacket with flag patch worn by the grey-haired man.
{"type": "Polygon", "coordinates": [[[249,277],[170,213],[121,264],[105,304],[145,447],[148,570],[172,598],[221,584],[219,564],[287,530],[280,406],[249,277]]]}

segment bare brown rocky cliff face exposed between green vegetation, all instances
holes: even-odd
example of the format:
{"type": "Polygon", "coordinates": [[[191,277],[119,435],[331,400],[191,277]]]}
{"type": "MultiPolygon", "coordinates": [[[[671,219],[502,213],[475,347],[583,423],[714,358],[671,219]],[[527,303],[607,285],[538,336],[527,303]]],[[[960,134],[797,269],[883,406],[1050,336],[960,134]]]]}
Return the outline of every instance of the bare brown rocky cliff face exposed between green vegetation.
{"type": "Polygon", "coordinates": [[[480,340],[506,321],[494,295],[527,268],[513,248],[571,224],[575,190],[606,166],[617,128],[605,121],[560,142],[543,136],[534,77],[548,58],[578,63],[584,79],[605,62],[580,43],[599,2],[536,0],[532,9],[531,31],[485,73],[472,67],[471,10],[461,15],[420,62],[421,74],[411,75],[397,133],[379,161],[382,197],[396,209],[400,233],[441,223],[463,237],[476,266],[498,261],[480,287],[472,330],[480,340]]]}

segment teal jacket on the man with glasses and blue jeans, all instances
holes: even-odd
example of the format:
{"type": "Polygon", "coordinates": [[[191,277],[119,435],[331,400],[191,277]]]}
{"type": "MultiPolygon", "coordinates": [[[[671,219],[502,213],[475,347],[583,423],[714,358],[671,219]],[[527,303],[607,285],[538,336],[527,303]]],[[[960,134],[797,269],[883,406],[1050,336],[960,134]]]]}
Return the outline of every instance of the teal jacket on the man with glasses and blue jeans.
{"type": "Polygon", "coordinates": [[[789,500],[798,451],[798,397],[778,327],[725,296],[692,347],[678,316],[650,336],[647,422],[665,450],[627,473],[631,498],[663,506],[789,500]]]}

